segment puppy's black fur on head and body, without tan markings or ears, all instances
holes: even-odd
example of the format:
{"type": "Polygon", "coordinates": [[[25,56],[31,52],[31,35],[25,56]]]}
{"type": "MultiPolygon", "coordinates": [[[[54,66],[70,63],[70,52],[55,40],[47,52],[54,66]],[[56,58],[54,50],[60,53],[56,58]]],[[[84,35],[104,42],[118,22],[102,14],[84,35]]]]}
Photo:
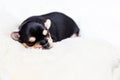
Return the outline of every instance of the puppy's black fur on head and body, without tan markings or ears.
{"type": "Polygon", "coordinates": [[[26,19],[19,27],[19,42],[26,43],[28,46],[33,46],[36,42],[46,44],[46,37],[51,36],[53,42],[61,41],[73,34],[79,35],[79,28],[76,23],[68,16],[59,12],[52,12],[40,16],[32,16],[26,19]],[[46,19],[51,20],[51,26],[47,29],[44,26],[46,19]],[[43,35],[42,31],[47,30],[49,33],[43,35]],[[36,37],[35,42],[29,42],[30,36],[36,37]]]}

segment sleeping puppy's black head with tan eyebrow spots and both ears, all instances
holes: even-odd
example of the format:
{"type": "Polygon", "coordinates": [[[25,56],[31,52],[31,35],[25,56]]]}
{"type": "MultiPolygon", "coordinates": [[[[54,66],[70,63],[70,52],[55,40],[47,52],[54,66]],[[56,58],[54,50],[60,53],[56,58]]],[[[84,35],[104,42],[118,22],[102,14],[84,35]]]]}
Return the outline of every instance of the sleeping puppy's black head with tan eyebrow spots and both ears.
{"type": "Polygon", "coordinates": [[[15,41],[19,41],[26,48],[43,48],[49,49],[52,47],[52,38],[49,33],[51,20],[45,22],[29,21],[22,24],[18,32],[12,32],[11,37],[15,41]]]}

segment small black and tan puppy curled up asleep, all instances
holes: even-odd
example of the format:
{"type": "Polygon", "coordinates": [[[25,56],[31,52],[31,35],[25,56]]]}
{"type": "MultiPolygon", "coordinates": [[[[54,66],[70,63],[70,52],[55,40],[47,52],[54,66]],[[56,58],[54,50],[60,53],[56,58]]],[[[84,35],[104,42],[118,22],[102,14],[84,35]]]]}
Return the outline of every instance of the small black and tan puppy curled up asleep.
{"type": "Polygon", "coordinates": [[[78,34],[79,28],[70,17],[53,12],[29,17],[20,25],[18,32],[11,34],[11,37],[26,48],[49,49],[52,47],[52,42],[76,37],[78,34]]]}

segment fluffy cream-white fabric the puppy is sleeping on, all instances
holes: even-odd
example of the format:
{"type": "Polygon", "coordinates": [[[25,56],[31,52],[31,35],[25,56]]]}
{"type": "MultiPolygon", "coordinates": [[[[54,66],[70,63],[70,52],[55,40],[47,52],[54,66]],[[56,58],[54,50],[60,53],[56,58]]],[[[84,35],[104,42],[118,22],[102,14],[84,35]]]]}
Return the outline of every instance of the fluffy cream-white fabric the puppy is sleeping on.
{"type": "Polygon", "coordinates": [[[26,49],[10,37],[16,19],[4,15],[0,80],[112,80],[115,52],[109,43],[78,37],[54,43],[49,50],[26,49]]]}

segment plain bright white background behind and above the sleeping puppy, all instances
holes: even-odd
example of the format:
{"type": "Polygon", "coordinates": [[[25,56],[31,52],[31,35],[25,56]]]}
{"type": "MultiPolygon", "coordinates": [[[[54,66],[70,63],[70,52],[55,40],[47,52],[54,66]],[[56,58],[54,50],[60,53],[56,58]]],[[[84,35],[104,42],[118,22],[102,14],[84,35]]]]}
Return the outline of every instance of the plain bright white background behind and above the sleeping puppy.
{"type": "Polygon", "coordinates": [[[21,22],[33,15],[63,12],[76,21],[82,37],[120,47],[120,0],[3,0],[2,9],[21,22]]]}

